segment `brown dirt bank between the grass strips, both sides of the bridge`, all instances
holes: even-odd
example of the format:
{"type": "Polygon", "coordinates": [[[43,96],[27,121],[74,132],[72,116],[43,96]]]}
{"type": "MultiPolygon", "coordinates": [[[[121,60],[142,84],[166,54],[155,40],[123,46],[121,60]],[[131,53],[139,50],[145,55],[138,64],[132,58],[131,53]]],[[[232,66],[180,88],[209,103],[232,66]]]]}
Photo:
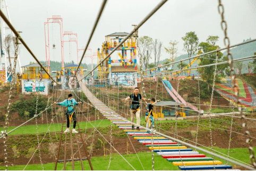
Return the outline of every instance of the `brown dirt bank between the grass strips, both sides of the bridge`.
{"type": "MultiPolygon", "coordinates": [[[[235,119],[235,123],[240,123],[239,119],[235,119]]],[[[255,137],[254,132],[254,126],[253,122],[248,122],[248,129],[251,133],[251,136],[255,137]]],[[[168,132],[160,131],[162,133],[165,133],[170,136],[174,136],[174,127],[175,123],[169,123],[169,129],[168,132]]],[[[109,126],[105,128],[98,129],[100,133],[106,138],[108,142],[110,142],[110,135],[109,135],[109,126]]],[[[202,144],[203,146],[210,147],[211,141],[210,141],[210,134],[209,131],[203,131],[203,126],[199,126],[199,133],[198,133],[198,142],[202,144]]],[[[183,139],[178,138],[180,140],[183,140],[184,142],[195,141],[195,132],[197,130],[197,125],[186,127],[184,129],[178,130],[178,135],[182,136],[183,139]],[[185,139],[187,140],[185,140],[185,139]]],[[[110,145],[106,142],[106,140],[103,138],[103,136],[100,135],[100,133],[95,132],[93,133],[93,129],[87,129],[86,134],[84,134],[85,130],[82,130],[82,136],[83,140],[86,141],[87,150],[90,153],[90,149],[92,147],[91,156],[104,156],[104,148],[105,155],[109,155],[110,145]],[[92,133],[92,134],[91,134],[92,133]],[[88,138],[89,137],[89,138],[88,138]],[[105,144],[105,147],[103,147],[103,143],[100,142],[100,140],[105,144]],[[93,141],[93,145],[91,144],[93,141]]],[[[237,130],[236,126],[233,127],[233,131],[243,133],[243,130],[237,130]]],[[[40,141],[44,137],[45,133],[39,134],[40,141]]],[[[212,130],[212,144],[214,144],[214,147],[219,148],[228,148],[228,142],[229,142],[229,135],[230,131],[221,131],[221,130],[212,130]]],[[[56,135],[55,133],[51,133],[52,141],[51,142],[49,135],[47,134],[44,141],[42,141],[41,144],[41,159],[44,164],[46,163],[52,163],[54,161],[54,155],[57,155],[58,151],[58,144],[59,144],[59,138],[60,133],[58,132],[56,135]],[[56,139],[56,136],[58,137],[58,140],[56,139]],[[54,150],[54,152],[53,152],[54,150]]],[[[80,137],[80,134],[78,134],[78,141],[79,141],[79,147],[82,146],[82,140],[80,137]]],[[[64,159],[64,146],[65,142],[65,135],[62,136],[62,145],[61,145],[61,152],[59,153],[59,160],[64,159]]],[[[142,152],[142,151],[149,151],[149,149],[144,146],[143,144],[139,143],[135,139],[132,138],[132,136],[127,137],[127,135],[118,127],[113,127],[112,132],[112,144],[115,147],[115,149],[120,152],[121,154],[127,154],[127,153],[135,153],[136,152],[142,152]],[[133,149],[133,147],[135,149],[133,149]]],[[[191,142],[190,142],[191,143],[191,142]]],[[[71,158],[71,141],[70,141],[70,134],[67,134],[67,159],[71,158]]],[[[76,144],[76,138],[73,134],[72,136],[72,144],[73,144],[73,151],[75,153],[74,158],[79,158],[78,155],[78,145],[76,144]]],[[[192,143],[193,144],[193,143],[192,143]]],[[[0,140],[0,145],[3,147],[3,140],[0,140]]],[[[251,146],[255,146],[255,140],[250,143],[251,146]]],[[[28,152],[28,149],[31,147],[37,148],[37,136],[35,134],[28,134],[28,135],[10,135],[7,139],[7,151],[8,151],[8,163],[11,165],[25,165],[28,163],[31,154],[28,152]],[[19,151],[19,157],[15,157],[15,149],[13,149],[13,146],[16,146],[16,149],[19,151]]],[[[231,148],[246,148],[245,144],[245,137],[242,134],[232,133],[232,141],[231,141],[231,148]]],[[[18,152],[16,151],[16,153],[18,152]]],[[[34,150],[35,151],[35,150],[34,150]]],[[[83,147],[80,148],[81,156],[85,157],[84,149],[83,147]]],[[[113,153],[116,153],[114,149],[112,149],[113,153]]],[[[4,149],[0,149],[0,162],[2,163],[4,160],[4,149]]],[[[17,155],[16,155],[17,156],[17,155]]],[[[32,158],[29,164],[39,164],[40,158],[39,153],[36,152],[35,156],[32,158]]],[[[2,164],[3,165],[3,164],[2,164]]]]}

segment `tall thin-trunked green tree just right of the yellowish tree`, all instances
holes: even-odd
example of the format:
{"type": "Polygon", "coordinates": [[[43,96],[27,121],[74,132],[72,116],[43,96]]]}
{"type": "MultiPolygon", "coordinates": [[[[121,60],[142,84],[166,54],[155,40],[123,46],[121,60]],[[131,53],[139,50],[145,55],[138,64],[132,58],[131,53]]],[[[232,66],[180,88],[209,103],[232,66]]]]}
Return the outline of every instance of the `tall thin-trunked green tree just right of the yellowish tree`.
{"type": "MultiPolygon", "coordinates": [[[[195,54],[198,49],[198,36],[195,34],[195,32],[187,32],[185,37],[182,37],[182,40],[184,41],[184,51],[187,52],[187,55],[191,57],[192,54],[195,54]]],[[[190,59],[189,59],[189,63],[190,59]]],[[[191,67],[191,66],[190,66],[191,67]]],[[[191,73],[191,71],[190,71],[191,73]]]]}

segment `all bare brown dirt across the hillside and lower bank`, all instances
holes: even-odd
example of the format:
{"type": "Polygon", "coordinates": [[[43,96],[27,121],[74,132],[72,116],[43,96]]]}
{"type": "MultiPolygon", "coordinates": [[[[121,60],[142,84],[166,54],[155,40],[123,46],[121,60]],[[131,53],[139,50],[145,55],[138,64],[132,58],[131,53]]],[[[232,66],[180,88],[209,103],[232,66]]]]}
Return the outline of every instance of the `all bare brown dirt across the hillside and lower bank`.
{"type": "MultiPolygon", "coordinates": [[[[172,83],[172,86],[174,87],[174,89],[177,89],[176,81],[171,81],[171,83],[172,83]]],[[[145,87],[147,87],[146,92],[145,92],[147,95],[147,98],[157,97],[157,99],[172,100],[161,82],[159,82],[157,84],[157,82],[150,82],[149,80],[148,81],[146,80],[145,84],[146,84],[145,87]]],[[[197,80],[191,80],[190,84],[192,87],[198,87],[197,80]]],[[[193,103],[193,100],[194,100],[195,104],[198,103],[198,101],[193,97],[192,91],[182,89],[182,85],[180,85],[179,88],[181,89],[181,91],[179,91],[179,93],[181,94],[181,96],[187,97],[187,101],[193,103]]],[[[103,101],[105,104],[108,104],[108,102],[109,102],[110,107],[112,107],[113,109],[118,111],[118,113],[120,113],[122,116],[128,117],[127,114],[130,113],[130,109],[129,109],[130,105],[123,104],[121,99],[123,99],[123,98],[127,97],[127,95],[131,94],[133,92],[132,88],[130,89],[130,88],[110,87],[109,89],[106,89],[106,88],[95,88],[94,87],[94,88],[92,88],[92,92],[95,91],[96,89],[99,89],[99,90],[97,90],[98,93],[96,95],[99,98],[99,100],[103,101]],[[107,99],[107,96],[105,95],[106,92],[110,96],[109,99],[107,99]],[[119,92],[119,96],[115,96],[118,92],[119,92]],[[114,96],[114,97],[111,97],[111,96],[114,96]]],[[[2,103],[0,104],[0,107],[3,107],[6,105],[5,101],[7,101],[7,99],[8,99],[8,95],[6,92],[7,91],[2,93],[2,96],[1,96],[2,103]]],[[[28,99],[28,98],[30,98],[30,96],[24,96],[24,99],[28,99]]],[[[12,101],[15,101],[18,99],[19,99],[19,95],[16,95],[16,96],[14,96],[12,101]]],[[[200,99],[200,103],[203,105],[203,102],[206,102],[209,100],[210,100],[210,98],[200,99]]],[[[218,107],[218,104],[223,105],[223,106],[228,106],[228,101],[225,99],[218,98],[217,95],[214,95],[214,99],[212,102],[213,108],[218,107]]],[[[201,108],[204,109],[203,106],[201,106],[201,108]]],[[[144,105],[142,106],[142,110],[146,111],[146,107],[144,105]]],[[[87,105],[83,105],[83,107],[81,107],[80,112],[81,113],[77,115],[78,121],[80,121],[80,122],[87,121],[87,119],[90,119],[90,121],[93,121],[95,119],[95,115],[93,115],[95,110],[93,108],[88,107],[87,105]],[[89,111],[89,113],[90,113],[90,118],[86,118],[87,111],[89,111]],[[85,114],[85,115],[83,116],[82,114],[85,114]]],[[[53,110],[53,113],[51,113],[51,114],[55,115],[54,110],[53,110]]],[[[48,119],[50,119],[51,117],[52,116],[50,116],[50,114],[49,114],[48,119]]],[[[43,117],[43,118],[44,119],[42,119],[42,120],[41,120],[41,118],[38,119],[38,124],[46,123],[46,117],[43,117]]],[[[99,114],[99,117],[97,117],[97,119],[102,119],[102,118],[104,118],[104,117],[100,114],[99,114]]],[[[193,118],[191,120],[194,120],[194,119],[197,119],[197,118],[193,118]]],[[[218,119],[221,119],[221,118],[218,118],[218,119]]],[[[20,118],[18,113],[13,113],[12,117],[10,118],[10,126],[17,126],[17,125],[23,123],[24,121],[25,121],[25,119],[20,118]]],[[[60,122],[60,121],[61,121],[61,117],[58,116],[58,122],[60,122]]],[[[56,118],[55,118],[54,122],[57,123],[56,118]]],[[[242,124],[240,119],[235,119],[235,122],[237,125],[242,124]]],[[[1,121],[0,124],[3,125],[4,121],[1,121]]],[[[35,124],[35,121],[32,121],[28,124],[35,124]]],[[[248,129],[251,133],[251,136],[255,137],[256,133],[254,132],[254,122],[248,121],[248,126],[249,126],[248,129]]],[[[169,123],[169,125],[167,125],[167,127],[168,127],[168,129],[167,129],[168,132],[165,132],[165,131],[160,131],[160,132],[165,133],[170,136],[174,136],[173,133],[174,133],[175,123],[169,123]]],[[[200,130],[199,130],[199,134],[198,134],[198,142],[200,144],[202,144],[203,146],[210,147],[211,140],[210,140],[209,131],[204,131],[204,126],[199,126],[199,128],[200,128],[200,130]]],[[[212,130],[212,143],[214,144],[213,146],[219,147],[219,148],[228,148],[229,135],[230,135],[229,129],[227,129],[227,130],[213,129],[212,130]]],[[[101,129],[99,129],[99,131],[107,139],[107,141],[110,142],[109,127],[101,128],[101,129]]],[[[190,126],[190,127],[185,127],[183,129],[178,129],[178,135],[187,139],[187,140],[181,139],[185,142],[189,142],[189,140],[194,141],[196,131],[197,131],[197,125],[194,125],[194,126],[190,126]]],[[[236,131],[241,134],[232,133],[231,148],[247,147],[245,144],[245,137],[243,135],[243,130],[239,129],[239,126],[233,126],[233,131],[236,131]]],[[[84,134],[84,130],[82,132],[83,132],[82,133],[83,139],[84,140],[87,139],[87,141],[86,141],[87,150],[89,153],[91,153],[92,157],[104,156],[104,151],[105,151],[105,155],[106,155],[106,153],[107,153],[107,155],[109,155],[110,146],[107,142],[105,142],[106,140],[103,138],[103,136],[100,135],[100,133],[98,133],[98,132],[92,133],[93,129],[87,129],[85,134],[84,134]],[[92,141],[93,141],[93,144],[91,144],[92,141]],[[103,143],[101,143],[101,141],[103,143]],[[107,150],[104,150],[103,144],[105,144],[105,149],[107,149],[107,150]]],[[[44,137],[44,135],[45,134],[39,134],[40,140],[44,137]]],[[[58,150],[60,133],[56,133],[56,134],[51,133],[50,135],[51,135],[51,138],[48,134],[45,136],[45,139],[44,139],[44,141],[42,141],[42,145],[41,145],[40,152],[41,152],[42,162],[44,164],[52,163],[53,161],[55,161],[55,155],[57,154],[57,150],[58,150]],[[56,137],[58,138],[58,140],[56,139],[56,137]]],[[[134,153],[135,151],[136,152],[149,151],[149,149],[146,146],[144,146],[141,143],[139,143],[138,141],[134,140],[131,136],[129,137],[130,139],[127,138],[127,135],[124,134],[123,131],[119,130],[118,128],[115,128],[113,130],[112,135],[113,135],[112,136],[113,146],[121,154],[134,153]],[[132,147],[132,144],[133,144],[135,151],[132,147]]],[[[80,139],[81,138],[80,135],[78,135],[78,138],[79,138],[79,140],[78,140],[79,146],[81,146],[82,140],[80,139]]],[[[59,153],[59,160],[64,159],[64,150],[65,150],[64,141],[65,141],[65,135],[62,136],[62,145],[61,145],[61,150],[60,150],[61,153],[59,153]]],[[[67,143],[68,143],[67,159],[70,159],[71,158],[70,135],[67,136],[67,143]]],[[[72,138],[72,143],[73,143],[73,151],[75,152],[74,157],[79,158],[78,152],[77,152],[78,145],[76,144],[74,135],[72,138]]],[[[3,139],[0,140],[0,144],[3,147],[3,139]]],[[[255,140],[252,139],[250,144],[251,144],[251,146],[255,146],[255,140]]],[[[7,139],[7,147],[8,147],[8,149],[7,149],[8,162],[10,165],[11,164],[13,164],[13,165],[27,164],[29,158],[31,157],[31,151],[29,151],[29,149],[37,148],[37,136],[36,136],[36,134],[10,135],[10,136],[8,136],[8,139],[7,139]],[[14,148],[14,146],[15,146],[15,148],[14,148]],[[17,155],[17,152],[19,152],[19,155],[17,155]],[[17,157],[17,156],[19,156],[19,157],[17,157]]],[[[35,149],[34,149],[34,151],[35,151],[35,149]]],[[[33,152],[33,149],[32,149],[32,152],[33,152]]],[[[112,152],[115,152],[115,151],[112,149],[112,152]]],[[[82,153],[82,157],[85,157],[83,148],[81,148],[81,153],[82,153]]],[[[4,149],[1,148],[0,149],[0,163],[3,163],[3,161],[4,161],[4,149]]],[[[30,161],[29,164],[39,164],[39,163],[40,163],[39,153],[36,152],[35,156],[32,158],[32,160],[30,161]]],[[[239,167],[237,167],[237,168],[241,169],[239,167]]]]}

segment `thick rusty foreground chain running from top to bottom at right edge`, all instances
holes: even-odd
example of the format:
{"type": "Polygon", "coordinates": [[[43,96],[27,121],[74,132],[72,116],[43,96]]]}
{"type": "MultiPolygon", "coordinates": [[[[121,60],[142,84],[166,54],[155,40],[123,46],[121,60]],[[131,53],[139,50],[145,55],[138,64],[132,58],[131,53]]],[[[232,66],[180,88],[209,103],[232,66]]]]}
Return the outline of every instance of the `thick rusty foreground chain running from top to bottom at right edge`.
{"type": "Polygon", "coordinates": [[[230,47],[229,47],[230,46],[230,41],[229,41],[229,38],[227,36],[227,22],[224,19],[224,6],[221,3],[221,0],[218,0],[218,1],[219,1],[218,12],[221,15],[221,29],[224,31],[224,35],[225,35],[224,45],[227,47],[227,57],[229,59],[228,63],[229,63],[230,72],[231,72],[231,80],[232,80],[232,83],[233,83],[233,90],[234,90],[235,96],[236,96],[237,109],[240,112],[241,121],[243,123],[242,126],[243,126],[243,129],[244,129],[244,135],[245,135],[245,139],[246,139],[245,142],[248,144],[248,150],[249,150],[249,153],[250,153],[250,160],[251,160],[251,163],[254,166],[254,168],[256,168],[255,153],[254,153],[253,148],[250,145],[250,142],[251,142],[251,139],[249,138],[250,132],[247,129],[247,124],[246,124],[246,121],[245,121],[245,115],[243,114],[243,108],[242,108],[242,106],[240,106],[241,99],[239,99],[239,88],[238,88],[238,85],[236,84],[235,75],[233,75],[234,74],[233,55],[231,54],[230,47]]]}

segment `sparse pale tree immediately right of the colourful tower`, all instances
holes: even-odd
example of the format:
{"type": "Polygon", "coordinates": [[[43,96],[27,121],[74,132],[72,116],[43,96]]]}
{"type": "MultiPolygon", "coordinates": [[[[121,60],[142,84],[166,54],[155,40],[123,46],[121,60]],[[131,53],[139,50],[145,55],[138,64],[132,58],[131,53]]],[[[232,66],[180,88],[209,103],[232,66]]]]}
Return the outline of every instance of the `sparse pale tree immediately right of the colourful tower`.
{"type": "Polygon", "coordinates": [[[139,44],[139,55],[142,58],[142,63],[145,66],[145,70],[147,70],[150,55],[152,53],[152,38],[148,36],[143,36],[138,39],[139,44]]]}

